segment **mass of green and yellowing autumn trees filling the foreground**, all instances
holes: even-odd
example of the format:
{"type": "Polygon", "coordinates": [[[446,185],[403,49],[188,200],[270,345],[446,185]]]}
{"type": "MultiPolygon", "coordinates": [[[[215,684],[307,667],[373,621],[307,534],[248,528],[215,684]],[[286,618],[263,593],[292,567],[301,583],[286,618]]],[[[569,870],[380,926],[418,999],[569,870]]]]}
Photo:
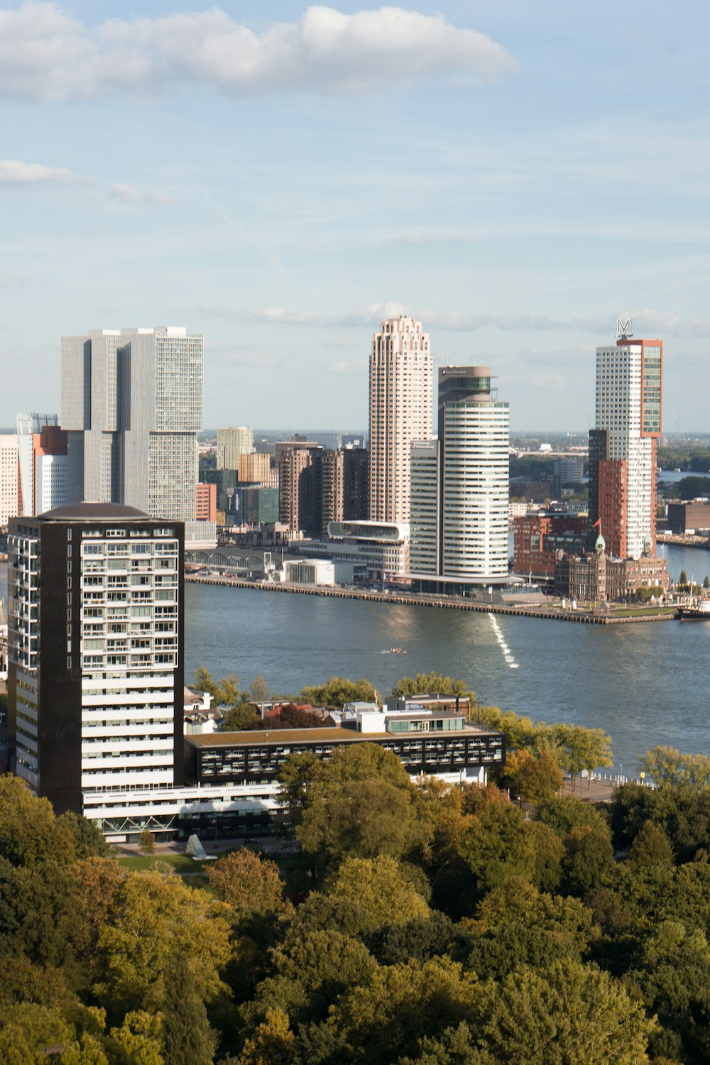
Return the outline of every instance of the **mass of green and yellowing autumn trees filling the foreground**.
{"type": "Polygon", "coordinates": [[[594,806],[550,789],[549,750],[506,770],[543,782],[527,810],[494,783],[414,785],[375,744],[293,757],[299,853],[237,848],[209,889],[160,855],[126,871],[0,777],[0,1061],[707,1062],[708,759],[658,748],[657,790],[594,806]]]}

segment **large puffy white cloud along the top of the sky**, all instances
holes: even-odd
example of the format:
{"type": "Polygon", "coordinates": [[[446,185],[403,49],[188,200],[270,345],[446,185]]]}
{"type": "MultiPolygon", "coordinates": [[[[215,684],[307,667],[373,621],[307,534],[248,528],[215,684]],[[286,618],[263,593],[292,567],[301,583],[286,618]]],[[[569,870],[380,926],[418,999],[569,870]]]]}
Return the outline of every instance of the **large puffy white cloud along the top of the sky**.
{"type": "Polygon", "coordinates": [[[0,12],[0,94],[32,99],[154,93],[185,81],[236,95],[359,93],[427,77],[493,81],[513,65],[485,34],[403,7],[346,15],[311,6],[298,22],[262,32],[219,7],[96,28],[51,2],[0,12]]]}

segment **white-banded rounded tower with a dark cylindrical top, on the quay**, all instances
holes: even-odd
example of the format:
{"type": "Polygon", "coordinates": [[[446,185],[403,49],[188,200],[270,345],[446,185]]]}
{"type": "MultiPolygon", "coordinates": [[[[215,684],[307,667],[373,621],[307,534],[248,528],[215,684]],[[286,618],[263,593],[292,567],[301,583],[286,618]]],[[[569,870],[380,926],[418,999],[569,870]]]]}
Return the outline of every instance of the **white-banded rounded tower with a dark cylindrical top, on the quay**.
{"type": "Polygon", "coordinates": [[[411,448],[410,568],[449,583],[508,577],[508,404],[490,366],[439,371],[439,441],[411,448]]]}

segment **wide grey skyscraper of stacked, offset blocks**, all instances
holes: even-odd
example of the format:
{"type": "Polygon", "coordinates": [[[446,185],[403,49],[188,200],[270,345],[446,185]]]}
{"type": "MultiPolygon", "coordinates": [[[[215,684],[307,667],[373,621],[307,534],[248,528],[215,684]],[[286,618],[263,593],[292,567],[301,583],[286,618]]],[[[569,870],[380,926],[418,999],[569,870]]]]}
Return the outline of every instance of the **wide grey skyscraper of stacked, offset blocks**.
{"type": "Polygon", "coordinates": [[[68,499],[194,522],[202,338],[182,327],[62,338],[68,499]]]}

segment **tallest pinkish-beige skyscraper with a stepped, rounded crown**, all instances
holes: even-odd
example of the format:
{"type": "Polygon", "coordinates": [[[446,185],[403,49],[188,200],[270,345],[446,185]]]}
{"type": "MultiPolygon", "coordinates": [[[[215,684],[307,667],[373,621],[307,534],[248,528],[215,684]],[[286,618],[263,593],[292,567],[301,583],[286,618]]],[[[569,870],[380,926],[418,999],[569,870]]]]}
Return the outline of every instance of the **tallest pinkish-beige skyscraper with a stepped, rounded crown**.
{"type": "Polygon", "coordinates": [[[369,518],[408,522],[410,448],[432,437],[433,355],[414,318],[390,318],[369,357],[369,518]]]}

